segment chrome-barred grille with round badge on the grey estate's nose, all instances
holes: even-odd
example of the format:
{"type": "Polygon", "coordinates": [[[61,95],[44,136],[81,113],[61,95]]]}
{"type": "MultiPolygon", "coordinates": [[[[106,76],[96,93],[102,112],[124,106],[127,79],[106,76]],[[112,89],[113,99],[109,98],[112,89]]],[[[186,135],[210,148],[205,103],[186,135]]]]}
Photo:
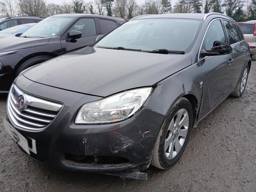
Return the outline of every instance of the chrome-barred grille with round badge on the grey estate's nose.
{"type": "Polygon", "coordinates": [[[7,101],[8,114],[12,122],[24,129],[42,130],[56,117],[62,104],[31,96],[12,85],[7,101]],[[24,109],[18,110],[17,100],[24,96],[24,109]]]}

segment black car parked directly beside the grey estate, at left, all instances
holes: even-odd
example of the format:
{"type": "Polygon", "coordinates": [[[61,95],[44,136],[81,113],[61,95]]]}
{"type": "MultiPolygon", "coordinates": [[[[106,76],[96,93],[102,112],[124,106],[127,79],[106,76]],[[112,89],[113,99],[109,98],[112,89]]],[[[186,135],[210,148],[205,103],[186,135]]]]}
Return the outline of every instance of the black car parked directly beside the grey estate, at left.
{"type": "Polygon", "coordinates": [[[0,93],[8,92],[24,69],[92,44],[123,19],[93,14],[58,14],[32,26],[21,36],[0,39],[0,93]]]}

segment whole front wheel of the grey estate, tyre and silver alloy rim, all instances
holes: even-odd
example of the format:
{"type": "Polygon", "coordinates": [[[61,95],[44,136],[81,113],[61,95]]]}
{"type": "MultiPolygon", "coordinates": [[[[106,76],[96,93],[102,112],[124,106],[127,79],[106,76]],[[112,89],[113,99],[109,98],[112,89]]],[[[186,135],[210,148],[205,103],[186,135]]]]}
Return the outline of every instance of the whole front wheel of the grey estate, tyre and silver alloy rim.
{"type": "Polygon", "coordinates": [[[160,169],[174,165],[184,152],[192,128],[190,102],[180,98],[168,114],[154,146],[151,164],[160,169]]]}

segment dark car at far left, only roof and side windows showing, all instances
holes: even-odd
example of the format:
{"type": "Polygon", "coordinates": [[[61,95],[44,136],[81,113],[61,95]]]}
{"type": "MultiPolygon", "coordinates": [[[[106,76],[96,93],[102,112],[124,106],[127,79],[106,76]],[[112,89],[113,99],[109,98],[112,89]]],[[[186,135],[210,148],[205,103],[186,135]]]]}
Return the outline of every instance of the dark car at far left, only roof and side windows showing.
{"type": "Polygon", "coordinates": [[[44,18],[42,17],[5,17],[0,18],[0,30],[4,30],[10,27],[14,27],[16,25],[26,24],[26,23],[38,23],[44,18]]]}

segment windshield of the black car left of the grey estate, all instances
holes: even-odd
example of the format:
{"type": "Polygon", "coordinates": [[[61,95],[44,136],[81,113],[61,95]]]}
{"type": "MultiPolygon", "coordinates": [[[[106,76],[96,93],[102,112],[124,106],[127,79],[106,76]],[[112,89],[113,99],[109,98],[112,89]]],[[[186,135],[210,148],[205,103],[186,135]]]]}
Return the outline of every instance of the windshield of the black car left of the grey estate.
{"type": "Polygon", "coordinates": [[[21,37],[44,38],[58,36],[59,32],[72,20],[74,20],[72,17],[48,17],[32,26],[21,37]]]}

